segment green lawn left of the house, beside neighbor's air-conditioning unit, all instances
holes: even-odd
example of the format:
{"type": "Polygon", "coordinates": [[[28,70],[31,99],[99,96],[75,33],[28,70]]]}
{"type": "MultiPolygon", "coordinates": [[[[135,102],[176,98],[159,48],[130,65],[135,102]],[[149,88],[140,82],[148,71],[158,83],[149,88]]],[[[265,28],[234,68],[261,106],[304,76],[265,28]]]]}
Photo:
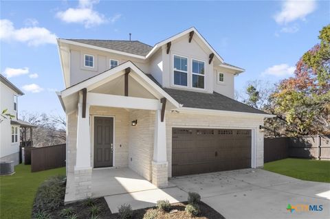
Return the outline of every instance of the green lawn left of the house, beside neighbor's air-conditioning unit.
{"type": "Polygon", "coordinates": [[[30,218],[39,185],[50,176],[65,175],[65,168],[31,172],[30,165],[15,166],[12,176],[0,176],[0,218],[30,218]]]}

